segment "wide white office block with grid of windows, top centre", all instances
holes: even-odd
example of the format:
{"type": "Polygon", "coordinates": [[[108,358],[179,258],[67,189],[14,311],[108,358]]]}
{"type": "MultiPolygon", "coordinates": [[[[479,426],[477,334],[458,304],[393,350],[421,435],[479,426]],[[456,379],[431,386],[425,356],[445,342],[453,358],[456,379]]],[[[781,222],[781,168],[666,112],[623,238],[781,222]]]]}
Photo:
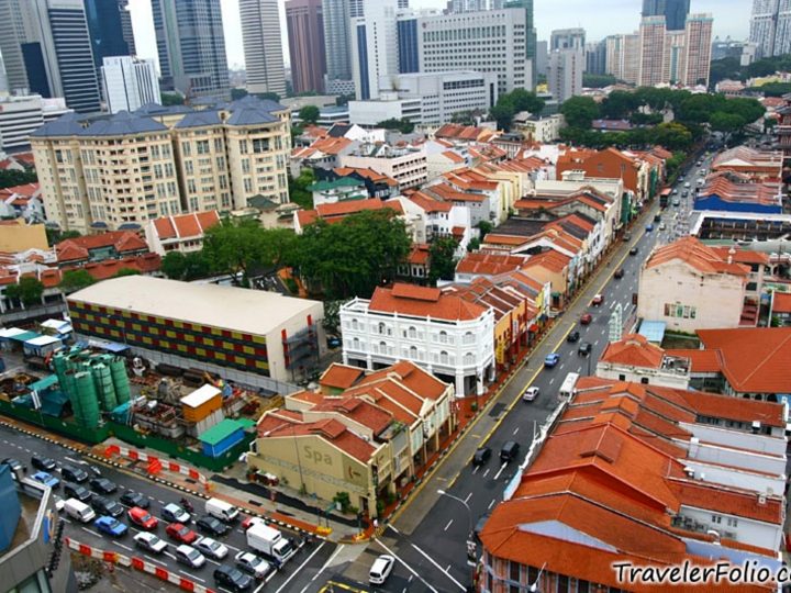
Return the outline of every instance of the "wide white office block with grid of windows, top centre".
{"type": "Polygon", "coordinates": [[[532,89],[527,20],[524,8],[420,16],[420,71],[492,72],[499,93],[532,89]]]}

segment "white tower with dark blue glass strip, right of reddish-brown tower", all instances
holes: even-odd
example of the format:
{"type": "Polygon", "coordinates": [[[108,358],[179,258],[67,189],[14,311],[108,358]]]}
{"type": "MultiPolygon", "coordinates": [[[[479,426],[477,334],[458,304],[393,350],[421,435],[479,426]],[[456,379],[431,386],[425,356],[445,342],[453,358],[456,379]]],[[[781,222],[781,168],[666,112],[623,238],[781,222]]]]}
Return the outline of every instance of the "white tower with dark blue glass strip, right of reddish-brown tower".
{"type": "Polygon", "coordinates": [[[379,97],[380,77],[399,74],[398,0],[365,0],[352,19],[352,76],[358,100],[379,97]]]}

